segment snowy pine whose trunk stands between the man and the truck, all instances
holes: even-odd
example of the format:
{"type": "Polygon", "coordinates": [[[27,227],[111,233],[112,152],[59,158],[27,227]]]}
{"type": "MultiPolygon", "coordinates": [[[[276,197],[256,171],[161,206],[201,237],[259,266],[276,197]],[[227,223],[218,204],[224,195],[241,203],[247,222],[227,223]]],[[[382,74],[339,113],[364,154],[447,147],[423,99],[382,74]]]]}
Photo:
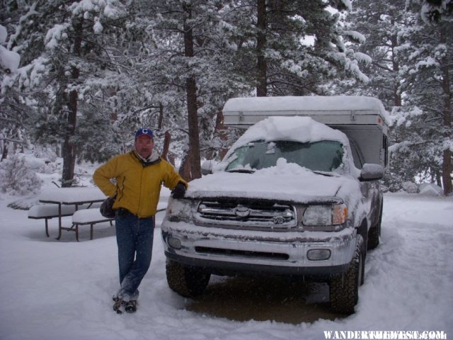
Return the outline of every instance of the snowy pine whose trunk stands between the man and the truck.
{"type": "MultiPolygon", "coordinates": [[[[212,140],[217,113],[226,98],[244,88],[233,72],[229,1],[136,1],[135,5],[133,25],[147,35],[149,50],[142,63],[142,74],[148,78],[144,84],[153,89],[152,98],[164,106],[168,118],[176,123],[181,123],[181,116],[186,119],[188,147],[180,173],[195,179],[201,176],[200,150],[212,140]]],[[[168,118],[168,128],[176,128],[168,118]]]]}

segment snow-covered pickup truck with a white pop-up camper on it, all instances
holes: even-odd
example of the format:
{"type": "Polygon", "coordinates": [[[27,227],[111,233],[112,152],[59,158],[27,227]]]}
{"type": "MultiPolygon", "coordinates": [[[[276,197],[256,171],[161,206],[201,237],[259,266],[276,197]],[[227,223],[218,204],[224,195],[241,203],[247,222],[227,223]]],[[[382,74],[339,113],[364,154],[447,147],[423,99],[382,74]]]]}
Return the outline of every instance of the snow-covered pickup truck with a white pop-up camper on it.
{"type": "Polygon", "coordinates": [[[161,226],[169,287],[203,293],[210,276],[327,282],[352,314],[368,249],[379,244],[388,113],[376,98],[233,98],[225,124],[248,128],[214,166],[170,198],[161,226]]]}

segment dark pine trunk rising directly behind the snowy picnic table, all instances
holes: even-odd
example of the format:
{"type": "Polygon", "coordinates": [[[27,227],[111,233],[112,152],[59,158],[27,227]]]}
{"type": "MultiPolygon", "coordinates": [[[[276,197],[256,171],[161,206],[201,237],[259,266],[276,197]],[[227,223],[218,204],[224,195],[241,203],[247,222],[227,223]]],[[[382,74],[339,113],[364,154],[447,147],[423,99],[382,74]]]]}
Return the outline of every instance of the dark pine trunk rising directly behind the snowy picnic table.
{"type": "MultiPolygon", "coordinates": [[[[74,39],[74,55],[81,55],[81,43],[82,43],[82,30],[83,30],[83,19],[78,21],[74,27],[75,39],[74,39]]],[[[71,80],[76,81],[79,79],[79,69],[72,67],[71,69],[71,80]]],[[[77,123],[77,98],[79,94],[77,90],[69,92],[69,103],[68,103],[68,125],[67,133],[64,135],[62,156],[63,156],[63,174],[62,174],[62,187],[72,186],[74,182],[74,168],[76,166],[76,150],[74,148],[72,137],[76,134],[76,123],[77,123]]]]}

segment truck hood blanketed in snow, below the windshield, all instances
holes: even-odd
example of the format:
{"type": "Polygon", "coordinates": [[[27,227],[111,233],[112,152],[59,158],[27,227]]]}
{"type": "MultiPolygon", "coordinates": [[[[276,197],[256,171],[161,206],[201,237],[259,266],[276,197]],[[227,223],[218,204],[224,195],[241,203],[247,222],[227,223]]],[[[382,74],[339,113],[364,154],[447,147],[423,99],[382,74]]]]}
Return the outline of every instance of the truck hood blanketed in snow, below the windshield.
{"type": "Polygon", "coordinates": [[[350,176],[316,174],[282,162],[253,174],[219,171],[191,181],[187,198],[256,198],[297,203],[360,199],[360,187],[350,176]]]}

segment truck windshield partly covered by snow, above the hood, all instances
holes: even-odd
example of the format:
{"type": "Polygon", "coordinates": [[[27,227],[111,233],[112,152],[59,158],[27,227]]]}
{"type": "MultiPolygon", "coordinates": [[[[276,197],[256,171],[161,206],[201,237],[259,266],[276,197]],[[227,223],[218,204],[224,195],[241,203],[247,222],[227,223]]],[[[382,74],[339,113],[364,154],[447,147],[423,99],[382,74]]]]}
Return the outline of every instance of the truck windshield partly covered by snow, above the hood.
{"type": "Polygon", "coordinates": [[[232,157],[234,160],[226,171],[268,168],[275,166],[279,158],[313,171],[333,171],[343,163],[343,145],[333,140],[312,143],[258,140],[239,147],[232,157]]]}

